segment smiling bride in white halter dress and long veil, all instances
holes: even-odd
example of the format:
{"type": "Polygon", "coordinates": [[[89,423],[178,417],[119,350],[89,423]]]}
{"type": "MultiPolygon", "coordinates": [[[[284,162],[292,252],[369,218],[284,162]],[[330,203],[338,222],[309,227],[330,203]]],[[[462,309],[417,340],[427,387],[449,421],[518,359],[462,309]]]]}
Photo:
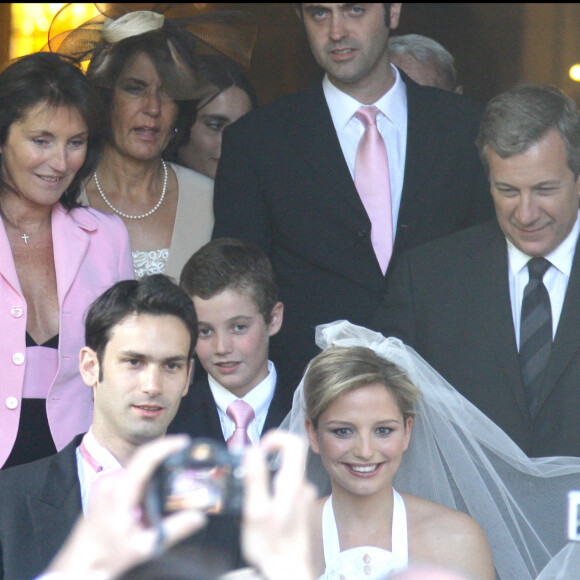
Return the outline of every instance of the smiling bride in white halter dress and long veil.
{"type": "Polygon", "coordinates": [[[494,565],[503,580],[538,577],[565,546],[580,459],[529,459],[397,339],[341,321],[318,327],[317,344],[327,350],[282,427],[308,435],[319,488],[330,479],[313,523],[318,573],[380,578],[417,561],[474,578],[493,578],[494,565]]]}

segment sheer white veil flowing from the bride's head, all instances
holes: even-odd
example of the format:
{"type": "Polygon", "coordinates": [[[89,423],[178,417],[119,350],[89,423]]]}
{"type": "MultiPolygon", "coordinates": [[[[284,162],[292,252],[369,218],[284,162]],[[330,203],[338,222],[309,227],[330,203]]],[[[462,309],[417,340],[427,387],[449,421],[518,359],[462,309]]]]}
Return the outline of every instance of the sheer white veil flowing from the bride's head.
{"type": "MultiPolygon", "coordinates": [[[[580,578],[580,543],[566,537],[567,495],[580,490],[580,458],[527,457],[396,338],[342,320],[318,326],[316,343],[370,348],[421,389],[409,448],[394,477],[397,489],[471,515],[487,535],[501,580],[580,578]]],[[[281,428],[305,435],[302,388],[303,382],[281,428]]],[[[308,461],[309,478],[321,496],[329,494],[319,456],[309,452],[308,461]]]]}

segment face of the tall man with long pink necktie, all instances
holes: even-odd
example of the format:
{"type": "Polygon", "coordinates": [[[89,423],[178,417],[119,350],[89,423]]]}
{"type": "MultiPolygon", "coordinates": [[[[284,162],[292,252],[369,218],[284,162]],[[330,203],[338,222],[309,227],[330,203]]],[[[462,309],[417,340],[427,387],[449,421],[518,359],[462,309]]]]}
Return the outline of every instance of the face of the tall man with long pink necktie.
{"type": "MultiPolygon", "coordinates": [[[[400,10],[391,4],[392,29],[400,10]]],[[[312,54],[336,87],[362,102],[385,94],[393,77],[383,4],[302,4],[302,14],[312,54]]]]}

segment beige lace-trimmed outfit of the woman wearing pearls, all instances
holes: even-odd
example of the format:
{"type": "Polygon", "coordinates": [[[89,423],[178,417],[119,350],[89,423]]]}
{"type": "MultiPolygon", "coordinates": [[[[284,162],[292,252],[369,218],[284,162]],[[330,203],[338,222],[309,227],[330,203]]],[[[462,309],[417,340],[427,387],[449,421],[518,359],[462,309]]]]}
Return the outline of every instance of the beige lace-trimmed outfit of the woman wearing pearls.
{"type": "MultiPolygon", "coordinates": [[[[177,177],[177,215],[169,248],[133,251],[135,277],[161,273],[179,281],[187,260],[210,241],[213,229],[213,180],[193,169],[169,163],[177,177]]],[[[90,205],[82,188],[79,201],[90,205]]]]}

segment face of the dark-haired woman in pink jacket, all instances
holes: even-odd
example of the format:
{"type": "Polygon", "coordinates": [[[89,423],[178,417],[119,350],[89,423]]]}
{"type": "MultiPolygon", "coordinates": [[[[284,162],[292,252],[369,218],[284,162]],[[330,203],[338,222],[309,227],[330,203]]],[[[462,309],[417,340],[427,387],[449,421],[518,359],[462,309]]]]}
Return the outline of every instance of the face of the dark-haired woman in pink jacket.
{"type": "Polygon", "coordinates": [[[82,167],[88,127],[75,107],[34,105],[0,147],[2,176],[30,206],[55,204],[82,167]]]}

